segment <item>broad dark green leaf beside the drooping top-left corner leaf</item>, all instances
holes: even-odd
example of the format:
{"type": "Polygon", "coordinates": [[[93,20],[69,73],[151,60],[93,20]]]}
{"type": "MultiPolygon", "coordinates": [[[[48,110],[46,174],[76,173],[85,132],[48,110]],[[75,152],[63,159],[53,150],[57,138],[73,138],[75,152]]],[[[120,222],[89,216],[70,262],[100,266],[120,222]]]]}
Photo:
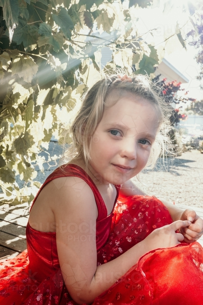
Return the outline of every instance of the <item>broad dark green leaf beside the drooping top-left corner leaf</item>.
{"type": "Polygon", "coordinates": [[[25,51],[32,51],[37,47],[38,28],[19,19],[18,27],[14,30],[12,41],[20,45],[23,42],[25,51]]]}

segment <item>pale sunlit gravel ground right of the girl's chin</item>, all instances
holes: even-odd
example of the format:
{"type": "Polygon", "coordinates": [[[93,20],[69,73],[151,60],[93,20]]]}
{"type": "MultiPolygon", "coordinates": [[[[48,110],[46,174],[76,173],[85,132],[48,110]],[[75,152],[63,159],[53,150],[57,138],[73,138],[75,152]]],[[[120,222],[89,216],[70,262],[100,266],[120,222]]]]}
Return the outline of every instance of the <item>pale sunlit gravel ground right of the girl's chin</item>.
{"type": "Polygon", "coordinates": [[[136,185],[157,198],[203,208],[203,154],[198,150],[184,152],[165,161],[167,170],[160,163],[155,170],[140,173],[136,185]]]}

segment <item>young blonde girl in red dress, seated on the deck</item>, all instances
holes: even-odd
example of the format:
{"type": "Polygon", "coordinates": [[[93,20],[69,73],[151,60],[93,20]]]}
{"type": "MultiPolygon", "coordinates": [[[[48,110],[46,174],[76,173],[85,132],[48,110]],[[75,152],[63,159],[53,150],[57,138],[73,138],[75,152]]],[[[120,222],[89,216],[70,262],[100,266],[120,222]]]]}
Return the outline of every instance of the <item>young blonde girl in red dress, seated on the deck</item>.
{"type": "Polygon", "coordinates": [[[31,206],[27,250],[0,262],[2,305],[202,304],[203,221],[130,180],[166,142],[156,91],[113,75],[87,92],[71,159],[31,206]]]}

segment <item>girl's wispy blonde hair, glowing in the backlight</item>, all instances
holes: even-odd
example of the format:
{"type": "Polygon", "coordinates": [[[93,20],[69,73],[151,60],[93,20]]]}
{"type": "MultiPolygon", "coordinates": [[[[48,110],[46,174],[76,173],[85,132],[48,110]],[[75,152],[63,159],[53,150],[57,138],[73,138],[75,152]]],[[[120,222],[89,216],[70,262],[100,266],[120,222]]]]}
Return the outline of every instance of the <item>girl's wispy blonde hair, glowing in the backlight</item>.
{"type": "Polygon", "coordinates": [[[127,74],[107,75],[93,85],[83,97],[82,106],[66,135],[72,139],[72,144],[65,151],[63,163],[83,157],[86,164],[91,160],[89,147],[91,138],[103,115],[104,107],[112,106],[121,97],[134,95],[147,100],[158,112],[159,131],[152,145],[147,168],[153,168],[157,158],[163,158],[171,151],[168,136],[170,130],[170,109],[160,96],[160,88],[143,75],[129,77],[127,74]],[[64,161],[65,160],[65,161],[64,161]]]}

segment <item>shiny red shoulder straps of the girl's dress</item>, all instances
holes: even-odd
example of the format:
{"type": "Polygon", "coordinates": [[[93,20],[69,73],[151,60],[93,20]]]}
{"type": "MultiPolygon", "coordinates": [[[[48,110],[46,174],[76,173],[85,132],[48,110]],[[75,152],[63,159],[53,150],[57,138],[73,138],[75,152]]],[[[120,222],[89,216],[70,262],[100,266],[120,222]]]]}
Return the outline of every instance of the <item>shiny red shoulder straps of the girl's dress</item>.
{"type": "MultiPolygon", "coordinates": [[[[30,211],[31,211],[31,209],[33,207],[33,204],[35,203],[39,193],[41,192],[42,188],[44,188],[44,186],[48,182],[50,182],[50,181],[52,181],[56,178],[70,177],[70,176],[79,177],[79,178],[83,179],[92,189],[94,197],[95,197],[95,201],[96,201],[96,206],[97,206],[97,209],[98,209],[98,217],[97,217],[96,221],[100,221],[100,220],[106,218],[107,217],[107,208],[106,208],[106,205],[103,201],[103,198],[102,198],[98,188],[96,187],[93,180],[89,177],[89,175],[80,166],[78,166],[76,164],[66,164],[65,166],[58,167],[56,170],[53,171],[52,174],[50,174],[47,177],[44,184],[41,186],[39,192],[37,193],[35,199],[33,200],[30,211]]],[[[118,193],[119,193],[119,189],[120,189],[121,186],[120,185],[115,185],[115,187],[116,187],[116,190],[117,190],[117,196],[116,196],[116,200],[114,202],[114,206],[117,202],[118,193]]],[[[114,210],[114,207],[113,207],[113,210],[114,210]]],[[[111,214],[113,213],[113,210],[112,210],[111,214]]]]}

